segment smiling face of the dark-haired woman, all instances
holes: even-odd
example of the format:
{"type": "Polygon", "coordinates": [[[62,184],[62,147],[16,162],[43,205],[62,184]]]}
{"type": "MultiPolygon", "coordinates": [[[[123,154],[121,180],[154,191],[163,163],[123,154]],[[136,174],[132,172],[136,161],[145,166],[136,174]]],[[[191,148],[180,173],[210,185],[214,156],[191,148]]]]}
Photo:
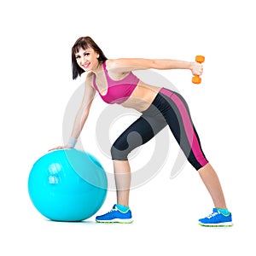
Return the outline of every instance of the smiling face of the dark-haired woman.
{"type": "Polygon", "coordinates": [[[83,68],[84,71],[96,70],[99,65],[99,61],[97,59],[99,55],[92,48],[80,48],[79,52],[75,54],[75,57],[79,64],[79,67],[83,68]]]}

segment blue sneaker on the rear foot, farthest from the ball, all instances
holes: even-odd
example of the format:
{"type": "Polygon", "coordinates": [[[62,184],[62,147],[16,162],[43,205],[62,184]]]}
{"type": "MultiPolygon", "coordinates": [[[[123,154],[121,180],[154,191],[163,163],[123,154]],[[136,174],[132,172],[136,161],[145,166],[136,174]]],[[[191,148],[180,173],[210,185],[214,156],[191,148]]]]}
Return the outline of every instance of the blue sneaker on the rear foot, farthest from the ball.
{"type": "Polygon", "coordinates": [[[225,216],[218,212],[218,209],[213,208],[213,211],[206,218],[200,218],[199,224],[207,227],[230,227],[232,226],[232,214],[225,216]]]}

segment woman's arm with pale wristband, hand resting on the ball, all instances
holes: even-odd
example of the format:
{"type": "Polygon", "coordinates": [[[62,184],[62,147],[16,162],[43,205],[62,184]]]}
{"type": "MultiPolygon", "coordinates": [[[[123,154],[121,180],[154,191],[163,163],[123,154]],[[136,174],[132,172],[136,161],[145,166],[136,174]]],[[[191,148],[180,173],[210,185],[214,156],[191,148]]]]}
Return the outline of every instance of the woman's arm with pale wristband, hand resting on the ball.
{"type": "Polygon", "coordinates": [[[93,102],[94,96],[96,94],[96,90],[94,89],[91,81],[92,81],[92,76],[90,74],[88,74],[86,81],[85,81],[85,85],[84,85],[83,100],[81,102],[79,110],[74,119],[73,131],[71,133],[71,137],[69,138],[67,144],[64,146],[51,148],[51,149],[49,149],[49,151],[55,150],[55,149],[61,149],[61,148],[74,148],[74,146],[79,138],[79,135],[80,135],[81,131],[83,130],[84,123],[85,123],[86,119],[88,118],[88,115],[90,112],[90,106],[91,106],[91,103],[93,102]]]}

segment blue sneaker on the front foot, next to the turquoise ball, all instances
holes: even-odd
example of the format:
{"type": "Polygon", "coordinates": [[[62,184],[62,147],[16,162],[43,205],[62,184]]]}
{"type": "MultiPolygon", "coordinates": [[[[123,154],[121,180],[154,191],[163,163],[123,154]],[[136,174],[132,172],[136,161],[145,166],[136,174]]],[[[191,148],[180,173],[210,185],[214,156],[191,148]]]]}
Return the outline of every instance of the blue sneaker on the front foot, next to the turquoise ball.
{"type": "Polygon", "coordinates": [[[116,205],[110,212],[96,217],[96,222],[100,223],[132,223],[130,208],[126,212],[121,212],[116,205]]]}

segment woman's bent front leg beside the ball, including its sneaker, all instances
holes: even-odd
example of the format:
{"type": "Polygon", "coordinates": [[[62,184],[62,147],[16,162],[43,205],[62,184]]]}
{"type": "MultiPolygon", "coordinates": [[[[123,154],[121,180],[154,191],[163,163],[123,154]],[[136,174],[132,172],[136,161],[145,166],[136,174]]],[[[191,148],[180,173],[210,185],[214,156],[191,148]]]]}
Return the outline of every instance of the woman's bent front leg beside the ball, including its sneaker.
{"type": "MultiPolygon", "coordinates": [[[[149,112],[147,111],[147,113],[149,112]]],[[[97,222],[132,222],[131,210],[129,208],[131,168],[128,161],[128,154],[133,149],[147,143],[167,125],[166,120],[159,114],[159,111],[157,113],[153,111],[153,113],[154,115],[148,116],[144,112],[113,143],[111,154],[116,183],[117,205],[114,205],[112,211],[97,216],[97,222]]]]}

